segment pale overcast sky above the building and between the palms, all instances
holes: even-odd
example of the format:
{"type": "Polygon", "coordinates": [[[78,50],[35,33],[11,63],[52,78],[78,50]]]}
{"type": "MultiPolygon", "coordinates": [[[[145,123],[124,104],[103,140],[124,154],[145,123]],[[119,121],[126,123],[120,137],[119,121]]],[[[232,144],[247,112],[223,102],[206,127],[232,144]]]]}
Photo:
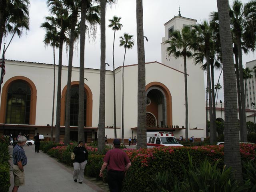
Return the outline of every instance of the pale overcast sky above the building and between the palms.
{"type": "MultiPolygon", "coordinates": [[[[242,0],[243,3],[248,0],[242,0]]],[[[145,41],[146,62],[161,62],[161,46],[162,37],[164,37],[164,23],[178,15],[178,6],[180,4],[181,16],[196,19],[198,23],[209,19],[212,11],[217,11],[216,0],[144,0],[144,36],[148,37],[145,41]]],[[[232,4],[232,1],[230,1],[232,4]]],[[[24,32],[19,39],[15,37],[6,51],[5,58],[10,60],[20,60],[28,62],[40,62],[53,64],[52,47],[45,47],[43,44],[44,30],[40,28],[40,24],[45,22],[44,17],[48,16],[48,8],[46,0],[30,0],[30,31],[24,32]]],[[[106,62],[110,67],[106,66],[106,70],[113,70],[112,66],[112,46],[114,31],[108,28],[108,20],[113,16],[122,17],[120,23],[123,28],[116,32],[115,41],[115,67],[121,66],[124,57],[124,48],[119,47],[119,37],[124,33],[134,35],[134,47],[127,50],[125,65],[137,64],[137,44],[136,44],[136,0],[118,0],[118,4],[107,7],[106,10],[106,62]]],[[[8,44],[10,36],[3,39],[3,43],[8,44]]],[[[74,50],[73,66],[79,66],[79,44],[76,43],[74,50]]],[[[56,50],[56,58],[58,58],[58,50],[56,50]]],[[[256,59],[256,56],[250,54],[243,57],[243,63],[256,59]]],[[[58,60],[56,59],[58,64],[58,60]]],[[[68,57],[66,49],[63,53],[63,65],[68,65],[68,57]]],[[[85,67],[100,68],[100,27],[98,27],[96,41],[86,40],[85,45],[85,67]]],[[[216,81],[218,73],[216,73],[216,81]]],[[[221,78],[222,79],[222,78],[221,78]]],[[[223,81],[222,81],[223,82],[223,81]]],[[[223,87],[223,83],[222,87],[223,87]]],[[[223,90],[223,89],[222,89],[223,90]]],[[[223,92],[220,93],[220,99],[223,99],[223,92]]],[[[218,99],[219,100],[219,99],[218,99]]]]}

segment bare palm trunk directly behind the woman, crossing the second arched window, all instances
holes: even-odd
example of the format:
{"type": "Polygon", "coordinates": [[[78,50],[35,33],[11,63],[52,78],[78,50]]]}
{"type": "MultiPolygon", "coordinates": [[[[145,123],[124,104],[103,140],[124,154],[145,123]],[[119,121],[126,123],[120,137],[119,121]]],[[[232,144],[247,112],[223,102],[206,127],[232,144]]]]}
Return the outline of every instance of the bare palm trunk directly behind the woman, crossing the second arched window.
{"type": "Polygon", "coordinates": [[[80,26],[80,68],[79,68],[79,106],[78,106],[78,141],[84,138],[84,47],[85,47],[86,0],[81,1],[80,26]]]}

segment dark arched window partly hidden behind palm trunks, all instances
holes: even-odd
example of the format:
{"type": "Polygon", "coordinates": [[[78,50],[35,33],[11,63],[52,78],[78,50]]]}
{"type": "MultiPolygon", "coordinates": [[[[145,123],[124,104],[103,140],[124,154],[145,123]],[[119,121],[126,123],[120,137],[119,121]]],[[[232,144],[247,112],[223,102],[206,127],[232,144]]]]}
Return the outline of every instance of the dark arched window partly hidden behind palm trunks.
{"type": "MultiPolygon", "coordinates": [[[[79,85],[71,86],[70,126],[78,126],[79,85]]],[[[86,125],[86,92],[84,92],[84,125],[86,125]]]]}

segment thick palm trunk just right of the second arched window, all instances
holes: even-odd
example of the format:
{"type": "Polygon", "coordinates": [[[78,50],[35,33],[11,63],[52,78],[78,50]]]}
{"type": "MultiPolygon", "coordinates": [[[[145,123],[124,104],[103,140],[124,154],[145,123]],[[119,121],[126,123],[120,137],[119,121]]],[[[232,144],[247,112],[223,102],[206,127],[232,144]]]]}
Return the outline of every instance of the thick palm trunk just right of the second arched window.
{"type": "Polygon", "coordinates": [[[98,150],[105,148],[106,0],[100,1],[100,108],[98,150]]]}

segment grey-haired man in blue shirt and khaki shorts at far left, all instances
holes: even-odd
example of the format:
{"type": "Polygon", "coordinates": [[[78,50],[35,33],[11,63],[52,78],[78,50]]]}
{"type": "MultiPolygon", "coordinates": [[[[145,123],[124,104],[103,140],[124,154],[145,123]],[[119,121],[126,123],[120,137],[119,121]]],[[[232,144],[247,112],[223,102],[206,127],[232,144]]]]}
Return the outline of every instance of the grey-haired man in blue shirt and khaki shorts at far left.
{"type": "Polygon", "coordinates": [[[18,144],[14,147],[12,152],[12,172],[14,175],[14,187],[12,189],[12,192],[17,192],[19,186],[22,186],[25,183],[24,166],[27,164],[28,160],[22,146],[26,144],[26,141],[26,137],[20,136],[18,139],[18,144]]]}

